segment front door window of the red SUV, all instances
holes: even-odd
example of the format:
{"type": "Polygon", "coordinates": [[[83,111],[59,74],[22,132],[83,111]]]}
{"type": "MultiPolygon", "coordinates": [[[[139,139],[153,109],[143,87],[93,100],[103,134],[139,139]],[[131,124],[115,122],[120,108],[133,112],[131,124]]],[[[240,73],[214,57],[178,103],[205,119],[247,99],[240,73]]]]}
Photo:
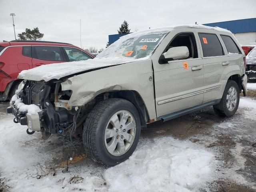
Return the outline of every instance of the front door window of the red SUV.
{"type": "Polygon", "coordinates": [[[81,60],[88,60],[92,57],[83,52],[82,50],[72,48],[72,47],[63,47],[68,55],[68,59],[70,61],[81,61],[81,60]]]}

